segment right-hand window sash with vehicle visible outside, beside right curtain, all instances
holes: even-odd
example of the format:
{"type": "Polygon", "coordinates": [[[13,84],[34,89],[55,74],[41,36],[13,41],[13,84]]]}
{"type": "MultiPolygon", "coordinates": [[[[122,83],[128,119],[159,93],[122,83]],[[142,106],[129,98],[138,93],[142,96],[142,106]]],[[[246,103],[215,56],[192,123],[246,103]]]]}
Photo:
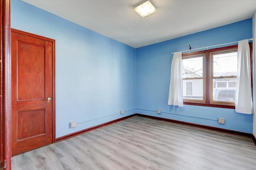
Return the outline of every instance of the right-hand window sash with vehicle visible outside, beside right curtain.
{"type": "Polygon", "coordinates": [[[237,49],[212,52],[211,103],[234,105],[237,79],[237,49]],[[230,87],[231,86],[231,87],[230,87]]]}

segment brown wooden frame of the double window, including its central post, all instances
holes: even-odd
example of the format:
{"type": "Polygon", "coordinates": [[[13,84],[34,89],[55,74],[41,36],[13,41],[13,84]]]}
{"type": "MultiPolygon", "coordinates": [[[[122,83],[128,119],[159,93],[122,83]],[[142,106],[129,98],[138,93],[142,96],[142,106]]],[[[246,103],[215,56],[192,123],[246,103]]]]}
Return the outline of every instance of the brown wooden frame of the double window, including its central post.
{"type": "MultiPolygon", "coordinates": [[[[251,86],[252,86],[252,42],[249,42],[250,47],[250,67],[251,67],[251,86]]],[[[190,100],[190,99],[183,99],[184,105],[197,105],[197,106],[206,106],[206,107],[220,107],[220,108],[228,108],[228,109],[235,109],[235,103],[234,102],[222,102],[222,101],[215,101],[213,102],[213,86],[211,81],[211,74],[212,66],[211,66],[211,53],[219,53],[221,51],[237,51],[238,45],[230,45],[226,47],[219,47],[214,49],[206,49],[202,51],[194,51],[190,53],[183,53],[182,59],[184,58],[192,58],[197,55],[204,54],[203,57],[203,68],[204,68],[204,79],[203,79],[203,101],[200,100],[190,100]]],[[[252,87],[253,89],[253,87],[252,87]]]]}

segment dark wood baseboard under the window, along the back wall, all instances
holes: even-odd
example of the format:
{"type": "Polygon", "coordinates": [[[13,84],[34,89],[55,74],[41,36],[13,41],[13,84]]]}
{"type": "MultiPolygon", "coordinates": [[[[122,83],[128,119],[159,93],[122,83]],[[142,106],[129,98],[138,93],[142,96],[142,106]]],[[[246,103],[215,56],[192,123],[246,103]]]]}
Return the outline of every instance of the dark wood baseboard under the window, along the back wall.
{"type": "Polygon", "coordinates": [[[136,115],[141,116],[141,117],[156,119],[156,120],[160,120],[160,121],[166,121],[166,122],[177,123],[177,124],[181,124],[181,125],[188,125],[188,126],[192,126],[192,127],[204,128],[204,129],[208,129],[208,130],[214,130],[214,131],[224,132],[224,133],[228,133],[228,134],[235,134],[235,135],[239,135],[239,136],[245,136],[245,137],[248,137],[248,138],[252,138],[252,136],[253,136],[253,134],[250,134],[250,133],[238,132],[238,131],[235,131],[235,130],[228,130],[228,129],[224,129],[224,128],[210,127],[210,126],[206,126],[206,125],[199,125],[199,124],[195,124],[195,123],[176,121],[176,120],[172,120],[172,119],[142,115],[142,114],[138,114],[138,113],[136,113],[136,115]]]}

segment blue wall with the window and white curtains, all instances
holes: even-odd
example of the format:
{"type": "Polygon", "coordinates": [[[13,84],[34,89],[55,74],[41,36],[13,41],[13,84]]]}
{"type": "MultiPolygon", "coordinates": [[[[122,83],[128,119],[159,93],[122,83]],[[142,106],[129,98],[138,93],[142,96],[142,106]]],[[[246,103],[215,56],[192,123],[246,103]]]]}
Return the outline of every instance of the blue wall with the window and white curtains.
{"type": "Polygon", "coordinates": [[[239,114],[234,109],[167,105],[172,52],[188,50],[189,44],[195,49],[250,38],[252,38],[252,19],[247,19],[136,49],[137,112],[252,133],[252,115],[239,114]],[[157,109],[161,109],[161,115],[157,115],[157,109]],[[218,124],[218,118],[226,119],[226,124],[218,124]]]}

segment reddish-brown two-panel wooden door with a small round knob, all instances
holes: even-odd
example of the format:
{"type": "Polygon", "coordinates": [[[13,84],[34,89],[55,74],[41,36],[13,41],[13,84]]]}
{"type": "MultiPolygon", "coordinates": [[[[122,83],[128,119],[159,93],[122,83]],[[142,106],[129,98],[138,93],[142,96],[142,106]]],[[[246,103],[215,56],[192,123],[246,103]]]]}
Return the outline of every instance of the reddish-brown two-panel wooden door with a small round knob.
{"type": "Polygon", "coordinates": [[[12,29],[12,156],[52,143],[54,40],[12,29]]]}

